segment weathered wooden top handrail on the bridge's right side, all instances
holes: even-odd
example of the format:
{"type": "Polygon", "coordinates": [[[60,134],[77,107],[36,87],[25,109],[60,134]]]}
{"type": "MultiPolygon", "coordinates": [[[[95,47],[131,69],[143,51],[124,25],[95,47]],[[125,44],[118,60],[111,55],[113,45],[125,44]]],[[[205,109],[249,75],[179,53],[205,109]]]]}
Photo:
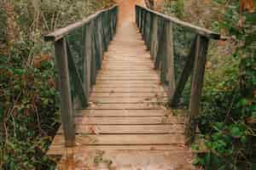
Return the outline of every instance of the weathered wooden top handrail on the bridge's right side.
{"type": "Polygon", "coordinates": [[[192,25],[188,22],[185,22],[183,20],[178,20],[177,18],[174,18],[172,16],[169,16],[169,15],[166,15],[166,14],[161,14],[159,12],[156,12],[156,11],[150,9],[150,8],[147,8],[147,7],[143,7],[141,5],[136,5],[136,8],[142,8],[144,10],[147,10],[149,13],[155,14],[155,15],[157,15],[157,16],[165,19],[165,20],[169,20],[172,23],[175,23],[175,24],[183,26],[183,27],[187,27],[187,28],[195,31],[196,33],[200,34],[201,36],[212,38],[212,39],[215,39],[215,40],[221,39],[221,37],[218,33],[207,30],[205,28],[202,28],[202,27],[199,27],[199,26],[194,26],[194,25],[192,25]]]}

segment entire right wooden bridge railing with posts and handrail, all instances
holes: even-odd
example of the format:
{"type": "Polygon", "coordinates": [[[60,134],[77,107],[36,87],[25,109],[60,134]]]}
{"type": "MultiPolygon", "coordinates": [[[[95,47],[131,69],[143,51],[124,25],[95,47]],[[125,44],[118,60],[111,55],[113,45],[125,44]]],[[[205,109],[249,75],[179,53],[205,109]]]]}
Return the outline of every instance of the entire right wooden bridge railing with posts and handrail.
{"type": "Polygon", "coordinates": [[[141,6],[136,6],[136,22],[168,91],[169,105],[189,105],[185,133],[191,144],[200,112],[208,43],[220,35],[141,6]]]}

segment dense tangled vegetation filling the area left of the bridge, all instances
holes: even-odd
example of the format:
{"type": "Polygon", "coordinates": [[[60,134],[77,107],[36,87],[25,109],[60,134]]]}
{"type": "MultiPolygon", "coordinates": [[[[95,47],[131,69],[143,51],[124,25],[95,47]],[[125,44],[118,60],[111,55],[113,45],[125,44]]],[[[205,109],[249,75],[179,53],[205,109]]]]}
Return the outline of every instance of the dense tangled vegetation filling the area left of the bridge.
{"type": "Polygon", "coordinates": [[[45,151],[59,126],[59,97],[52,46],[42,36],[110,4],[0,2],[0,169],[55,168],[45,151]]]}

